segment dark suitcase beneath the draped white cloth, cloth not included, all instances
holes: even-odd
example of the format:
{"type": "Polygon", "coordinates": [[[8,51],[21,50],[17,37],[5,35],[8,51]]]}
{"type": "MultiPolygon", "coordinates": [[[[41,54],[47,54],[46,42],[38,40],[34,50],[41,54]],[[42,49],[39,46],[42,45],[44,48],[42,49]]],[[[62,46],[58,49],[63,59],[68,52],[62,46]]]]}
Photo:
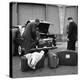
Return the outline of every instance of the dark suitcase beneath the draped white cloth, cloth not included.
{"type": "MultiPolygon", "coordinates": [[[[43,56],[42,59],[36,64],[36,69],[44,67],[44,60],[45,60],[45,56],[43,56]]],[[[25,56],[21,57],[21,71],[22,72],[33,70],[28,66],[27,61],[28,60],[25,56]]]]}

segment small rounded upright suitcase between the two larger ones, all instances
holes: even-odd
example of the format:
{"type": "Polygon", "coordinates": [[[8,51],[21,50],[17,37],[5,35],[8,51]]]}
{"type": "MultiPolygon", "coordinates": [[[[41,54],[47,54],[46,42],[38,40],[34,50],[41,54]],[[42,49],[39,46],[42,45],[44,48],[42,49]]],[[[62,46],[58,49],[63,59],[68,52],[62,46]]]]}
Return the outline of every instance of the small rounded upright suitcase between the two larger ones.
{"type": "Polygon", "coordinates": [[[52,52],[52,50],[49,50],[48,52],[48,67],[49,68],[57,68],[59,64],[59,58],[58,56],[52,52]]]}

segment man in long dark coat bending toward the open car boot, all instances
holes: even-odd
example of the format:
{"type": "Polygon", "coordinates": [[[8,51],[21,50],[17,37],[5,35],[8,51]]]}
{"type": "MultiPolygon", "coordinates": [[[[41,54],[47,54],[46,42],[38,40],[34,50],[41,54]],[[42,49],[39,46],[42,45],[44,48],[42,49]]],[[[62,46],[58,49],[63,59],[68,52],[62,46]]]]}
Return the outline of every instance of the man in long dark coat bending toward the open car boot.
{"type": "Polygon", "coordinates": [[[26,29],[23,33],[23,43],[22,48],[25,49],[25,52],[28,53],[33,47],[33,41],[36,40],[36,27],[39,25],[39,19],[36,19],[35,22],[30,22],[27,24],[26,29]]]}

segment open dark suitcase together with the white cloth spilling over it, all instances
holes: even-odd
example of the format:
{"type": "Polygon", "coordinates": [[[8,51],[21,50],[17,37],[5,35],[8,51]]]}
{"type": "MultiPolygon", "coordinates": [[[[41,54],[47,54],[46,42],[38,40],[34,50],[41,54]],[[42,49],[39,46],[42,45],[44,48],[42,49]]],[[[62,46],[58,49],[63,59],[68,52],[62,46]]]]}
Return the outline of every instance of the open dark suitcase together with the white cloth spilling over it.
{"type": "Polygon", "coordinates": [[[21,57],[21,70],[26,72],[44,67],[44,51],[33,52],[21,57]]]}

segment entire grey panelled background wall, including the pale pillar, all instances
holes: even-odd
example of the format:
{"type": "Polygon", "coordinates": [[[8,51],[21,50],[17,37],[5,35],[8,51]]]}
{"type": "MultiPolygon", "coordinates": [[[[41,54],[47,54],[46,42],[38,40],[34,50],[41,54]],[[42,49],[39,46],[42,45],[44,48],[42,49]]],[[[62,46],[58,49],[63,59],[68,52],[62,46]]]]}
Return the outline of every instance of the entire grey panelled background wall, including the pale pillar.
{"type": "MultiPolygon", "coordinates": [[[[65,36],[67,18],[72,16],[78,23],[77,6],[59,6],[49,4],[13,3],[12,25],[23,25],[27,20],[39,18],[51,22],[49,32],[65,36]]],[[[61,37],[60,37],[61,38],[61,37]]]]}

